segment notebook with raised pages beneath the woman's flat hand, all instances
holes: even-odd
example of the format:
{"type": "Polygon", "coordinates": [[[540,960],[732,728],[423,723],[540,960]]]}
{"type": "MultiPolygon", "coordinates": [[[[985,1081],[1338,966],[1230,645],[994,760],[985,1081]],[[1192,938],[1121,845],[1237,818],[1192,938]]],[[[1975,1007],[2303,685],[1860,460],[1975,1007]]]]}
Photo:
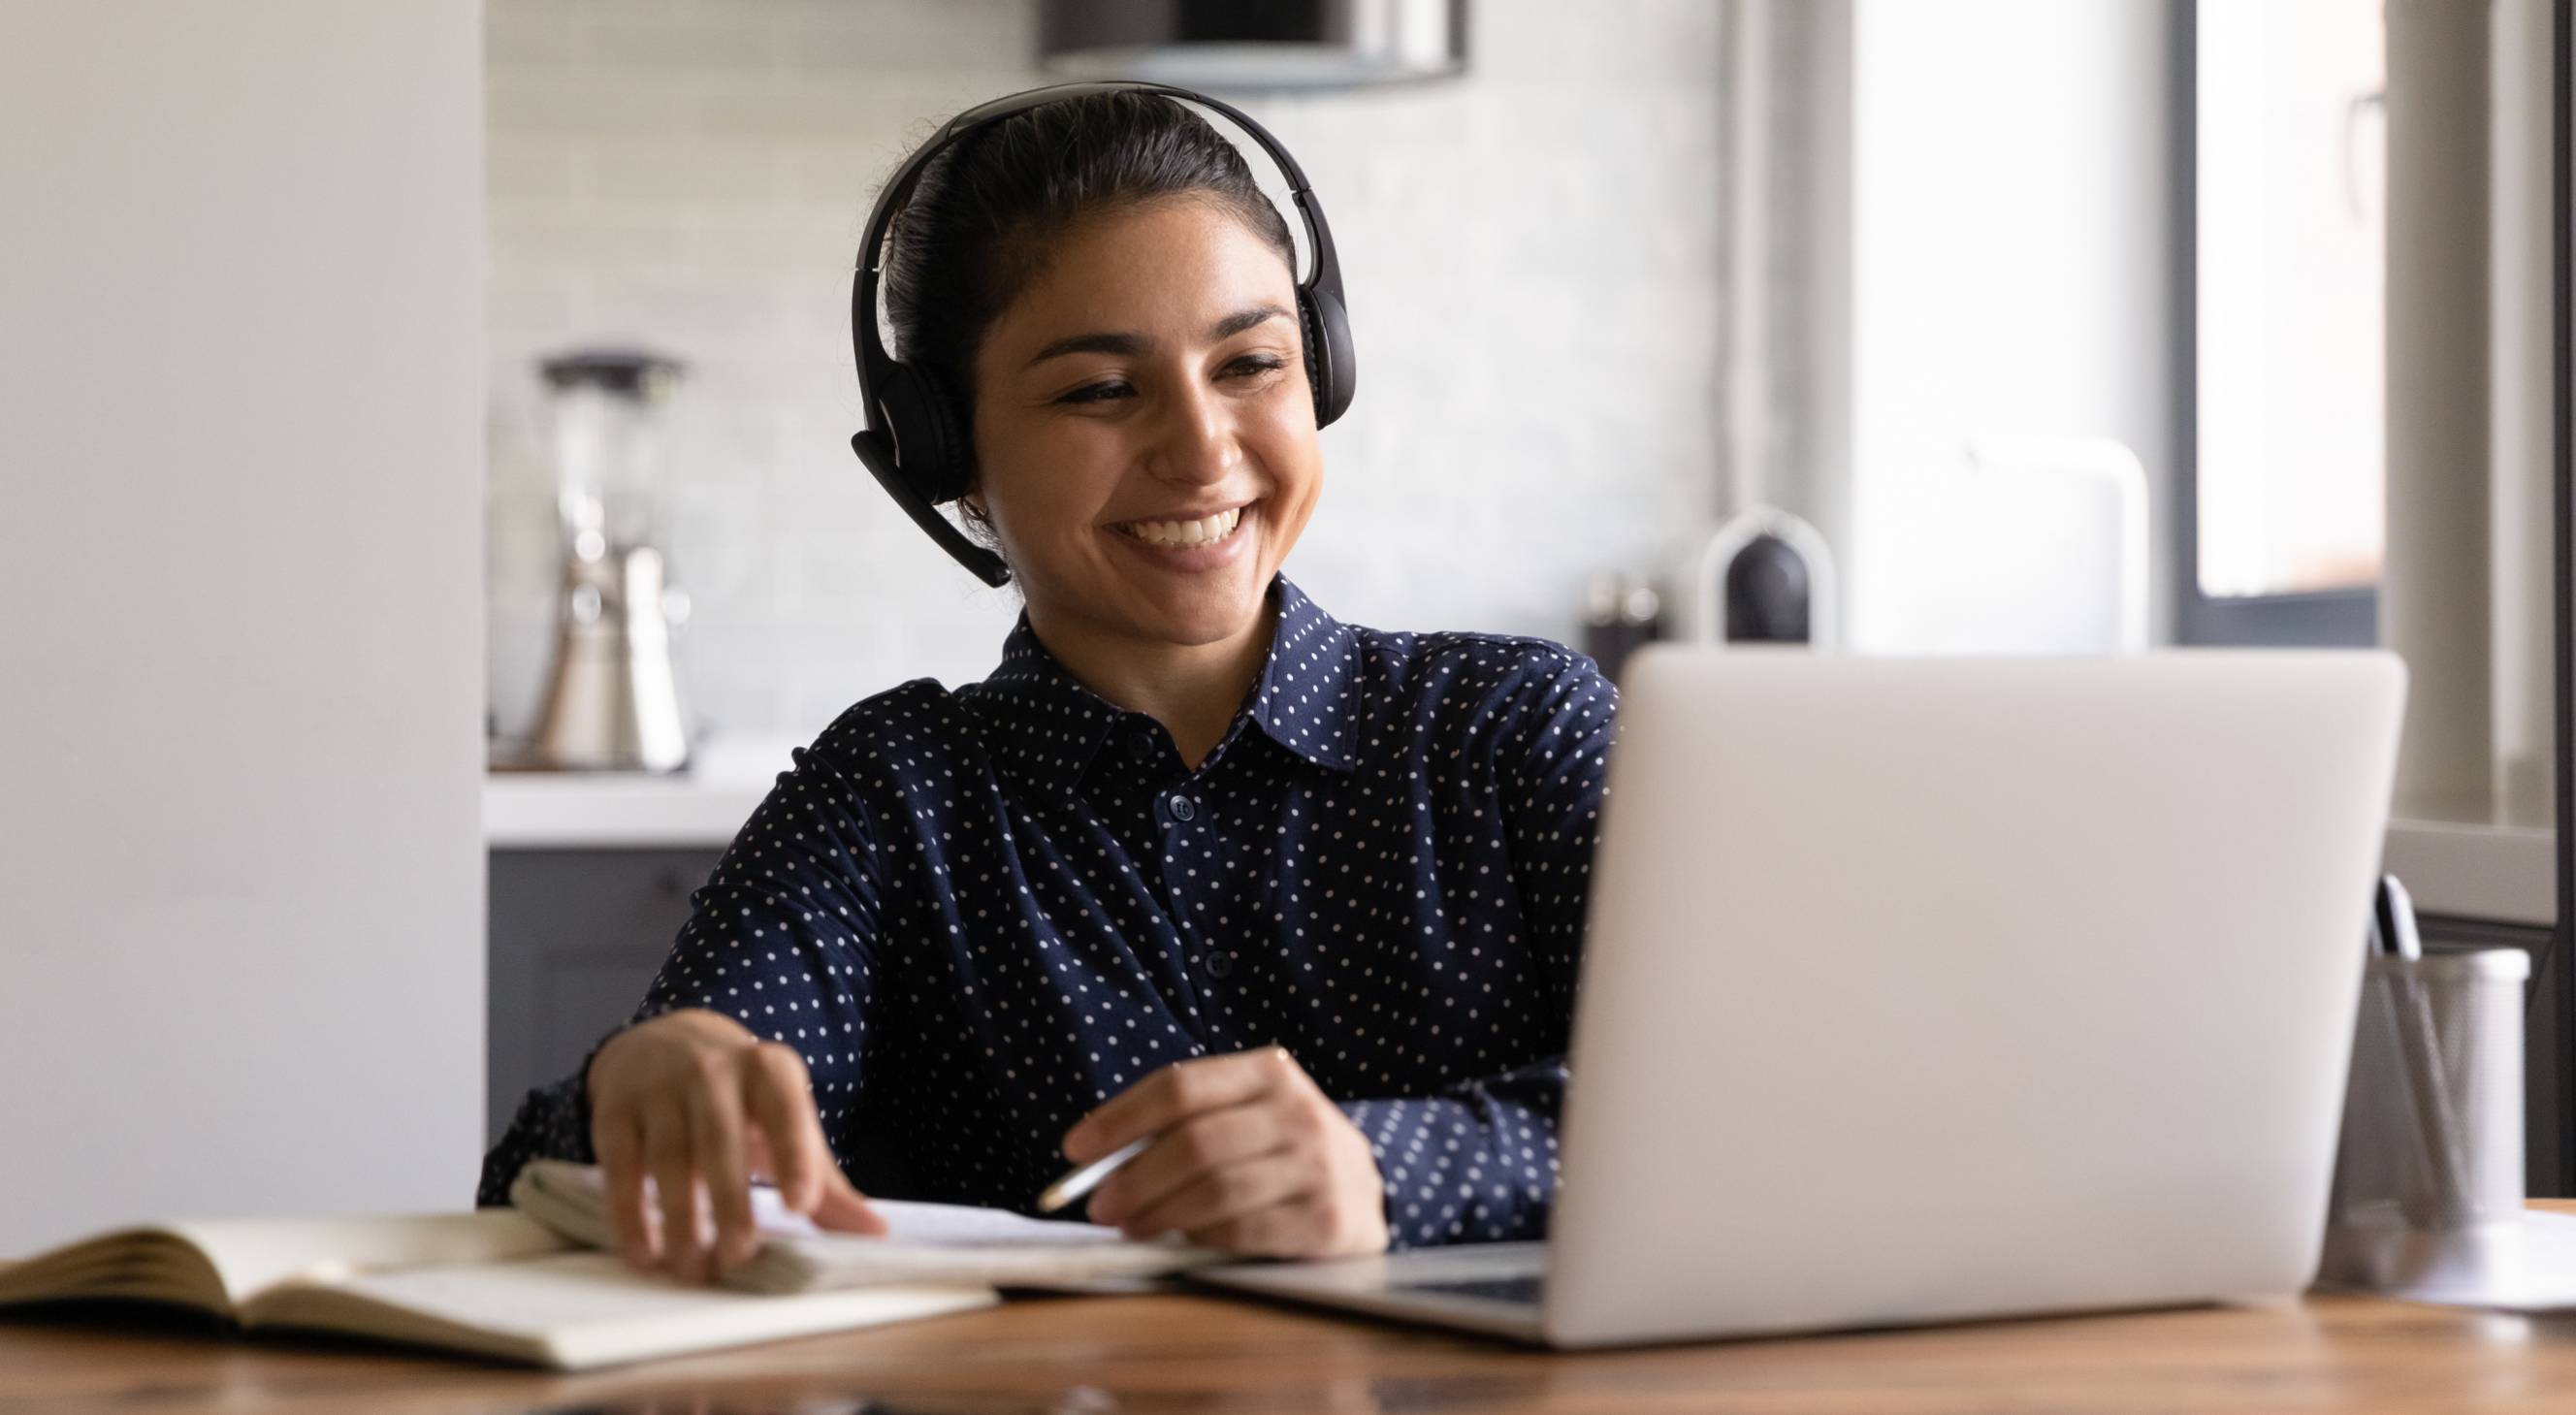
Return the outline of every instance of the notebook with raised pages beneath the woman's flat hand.
{"type": "MultiPolygon", "coordinates": [[[[649,1193],[647,1180],[647,1193],[649,1193]]],[[[616,1247],[608,1193],[595,1165],[531,1160],[510,1204],[549,1229],[592,1247],[616,1247]]],[[[884,1237],[837,1235],[788,1209],[770,1186],[752,1186],[760,1255],[724,1276],[742,1291],[832,1291],[878,1284],[989,1284],[1056,1291],[1126,1291],[1144,1278],[1226,1260],[1175,1240],[1136,1242],[1113,1227],[1028,1219],[1005,1209],[871,1198],[884,1237]]]]}

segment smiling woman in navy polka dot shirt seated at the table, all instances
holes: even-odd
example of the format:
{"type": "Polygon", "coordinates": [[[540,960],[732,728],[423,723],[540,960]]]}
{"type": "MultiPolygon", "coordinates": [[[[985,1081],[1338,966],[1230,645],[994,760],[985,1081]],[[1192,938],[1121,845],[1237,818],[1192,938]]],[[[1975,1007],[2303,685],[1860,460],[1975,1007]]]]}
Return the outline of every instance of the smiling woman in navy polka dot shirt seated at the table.
{"type": "Polygon", "coordinates": [[[598,1157],[629,1258],[706,1276],[750,1255],[752,1175],[871,1232],[853,1170],[1025,1211],[1146,1142],[1095,1222],[1273,1255],[1546,1232],[1618,693],[1280,572],[1352,389],[1329,235],[1309,206],[1301,286],[1170,93],[999,101],[889,183],[902,366],[863,263],[858,448],[933,534],[958,500],[1025,611],[981,683],[796,753],[487,1204],[598,1157]]]}

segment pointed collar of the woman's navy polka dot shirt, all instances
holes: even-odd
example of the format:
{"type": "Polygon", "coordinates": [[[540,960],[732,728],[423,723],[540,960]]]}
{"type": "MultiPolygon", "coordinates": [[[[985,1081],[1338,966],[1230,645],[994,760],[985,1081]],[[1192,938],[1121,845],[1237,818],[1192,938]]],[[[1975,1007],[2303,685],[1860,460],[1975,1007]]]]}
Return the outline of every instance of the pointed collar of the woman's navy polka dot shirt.
{"type": "MultiPolygon", "coordinates": [[[[1340,619],[1306,598],[1288,575],[1270,580],[1270,655],[1242,714],[1288,753],[1347,773],[1358,719],[1360,647],[1340,619]]],[[[1028,608],[1002,642],[1002,662],[971,693],[994,758],[1051,794],[1072,794],[1128,709],[1084,688],[1028,626],[1028,608]]],[[[1242,717],[1236,714],[1236,717],[1242,717]]]]}

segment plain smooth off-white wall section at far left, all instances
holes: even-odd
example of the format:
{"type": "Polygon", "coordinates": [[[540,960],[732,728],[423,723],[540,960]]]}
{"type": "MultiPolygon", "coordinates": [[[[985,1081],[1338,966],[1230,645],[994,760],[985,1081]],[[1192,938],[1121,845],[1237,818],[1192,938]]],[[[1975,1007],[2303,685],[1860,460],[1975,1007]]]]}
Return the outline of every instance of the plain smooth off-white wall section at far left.
{"type": "Polygon", "coordinates": [[[471,0],[0,10],[0,1255],[459,1209],[471,0]]]}

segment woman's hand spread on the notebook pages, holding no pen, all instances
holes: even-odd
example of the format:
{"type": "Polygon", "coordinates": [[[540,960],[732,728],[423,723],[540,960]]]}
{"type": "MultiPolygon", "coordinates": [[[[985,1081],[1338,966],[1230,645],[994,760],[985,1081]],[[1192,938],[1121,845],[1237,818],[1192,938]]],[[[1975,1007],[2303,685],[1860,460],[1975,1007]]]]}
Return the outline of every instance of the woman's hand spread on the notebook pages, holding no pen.
{"type": "Polygon", "coordinates": [[[750,1263],[752,1178],[827,1229],[886,1232],[832,1160],[804,1057],[783,1041],[703,1008],[662,1013],[600,1046],[585,1085],[608,1217],[639,1271],[706,1281],[750,1263]]]}

